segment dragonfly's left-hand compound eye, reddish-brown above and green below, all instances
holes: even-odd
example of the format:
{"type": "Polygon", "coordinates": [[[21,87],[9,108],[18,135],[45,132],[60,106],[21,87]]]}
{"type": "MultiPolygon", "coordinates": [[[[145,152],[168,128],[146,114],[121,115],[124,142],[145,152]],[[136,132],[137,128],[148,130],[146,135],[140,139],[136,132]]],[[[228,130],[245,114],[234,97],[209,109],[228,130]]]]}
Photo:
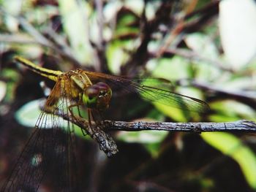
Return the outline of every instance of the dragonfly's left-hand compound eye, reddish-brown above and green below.
{"type": "Polygon", "coordinates": [[[99,88],[97,85],[91,85],[83,93],[83,104],[89,108],[95,108],[99,96],[99,88]]]}

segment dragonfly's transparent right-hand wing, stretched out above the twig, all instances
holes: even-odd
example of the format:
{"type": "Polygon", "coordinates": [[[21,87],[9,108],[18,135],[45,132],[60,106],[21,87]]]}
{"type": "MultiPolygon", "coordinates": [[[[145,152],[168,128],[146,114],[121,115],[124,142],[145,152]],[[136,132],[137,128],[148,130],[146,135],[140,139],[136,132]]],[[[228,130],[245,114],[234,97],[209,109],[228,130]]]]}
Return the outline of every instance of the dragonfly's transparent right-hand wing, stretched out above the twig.
{"type": "Polygon", "coordinates": [[[129,78],[97,72],[85,71],[85,74],[88,75],[92,82],[107,82],[110,86],[113,85],[115,87],[122,88],[127,92],[138,93],[143,99],[148,101],[159,102],[161,104],[166,104],[167,106],[178,107],[182,110],[195,112],[204,112],[208,110],[208,104],[200,99],[168,91],[166,82],[161,78],[139,77],[132,80],[129,78]],[[145,83],[145,85],[143,84],[147,79],[151,81],[155,80],[155,84],[153,84],[154,87],[148,86],[147,83],[145,83]]]}

